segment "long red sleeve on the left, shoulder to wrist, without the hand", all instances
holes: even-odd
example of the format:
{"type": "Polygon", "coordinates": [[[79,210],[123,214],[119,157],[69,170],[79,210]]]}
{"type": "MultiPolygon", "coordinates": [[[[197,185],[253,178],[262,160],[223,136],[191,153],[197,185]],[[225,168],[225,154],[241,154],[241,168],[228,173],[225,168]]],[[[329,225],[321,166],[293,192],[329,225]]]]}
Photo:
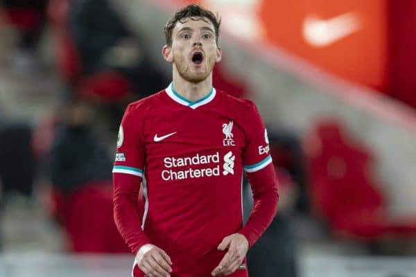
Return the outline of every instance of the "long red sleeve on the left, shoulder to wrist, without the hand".
{"type": "Polygon", "coordinates": [[[142,122],[136,105],[125,110],[119,128],[116,157],[113,167],[114,221],[133,253],[150,243],[141,230],[137,200],[144,175],[144,139],[142,122]]]}

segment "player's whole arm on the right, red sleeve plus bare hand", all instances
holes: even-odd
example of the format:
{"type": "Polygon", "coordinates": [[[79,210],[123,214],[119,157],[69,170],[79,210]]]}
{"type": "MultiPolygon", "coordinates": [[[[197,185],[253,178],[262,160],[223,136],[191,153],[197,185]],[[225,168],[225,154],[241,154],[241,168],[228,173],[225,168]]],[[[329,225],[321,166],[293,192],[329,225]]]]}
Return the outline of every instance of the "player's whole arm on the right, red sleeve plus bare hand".
{"type": "Polygon", "coordinates": [[[248,145],[243,153],[244,170],[252,186],[254,206],[247,224],[238,232],[228,235],[218,245],[218,250],[227,250],[212,276],[232,274],[239,268],[249,247],[266,231],[275,217],[279,195],[275,167],[270,157],[270,147],[266,127],[257,107],[250,102],[245,132],[248,145]]]}

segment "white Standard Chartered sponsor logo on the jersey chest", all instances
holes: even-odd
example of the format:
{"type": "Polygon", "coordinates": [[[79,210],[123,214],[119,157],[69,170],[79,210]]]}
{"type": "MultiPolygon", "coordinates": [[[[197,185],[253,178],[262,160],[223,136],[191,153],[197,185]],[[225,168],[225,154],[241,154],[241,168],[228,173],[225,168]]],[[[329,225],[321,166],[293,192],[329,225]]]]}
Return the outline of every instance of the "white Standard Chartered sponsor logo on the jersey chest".
{"type": "MultiPolygon", "coordinates": [[[[224,156],[223,175],[234,175],[234,160],[236,157],[229,151],[224,156]]],[[[196,154],[191,157],[166,157],[163,160],[165,170],[162,170],[164,181],[175,181],[189,178],[220,176],[220,153],[209,155],[196,154]],[[205,168],[193,166],[207,165],[205,168]],[[185,169],[182,169],[184,168],[185,169]],[[181,168],[176,170],[176,168],[181,168]]]]}

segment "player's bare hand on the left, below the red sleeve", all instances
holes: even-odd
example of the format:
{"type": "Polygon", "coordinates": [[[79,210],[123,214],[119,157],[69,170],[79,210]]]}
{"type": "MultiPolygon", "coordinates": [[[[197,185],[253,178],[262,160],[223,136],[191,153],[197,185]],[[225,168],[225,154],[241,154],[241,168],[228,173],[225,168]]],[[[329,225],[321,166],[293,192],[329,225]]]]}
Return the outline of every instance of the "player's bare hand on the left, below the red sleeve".
{"type": "Polygon", "coordinates": [[[172,261],[165,251],[153,244],[144,244],[136,255],[137,265],[146,276],[168,277],[172,261]]]}

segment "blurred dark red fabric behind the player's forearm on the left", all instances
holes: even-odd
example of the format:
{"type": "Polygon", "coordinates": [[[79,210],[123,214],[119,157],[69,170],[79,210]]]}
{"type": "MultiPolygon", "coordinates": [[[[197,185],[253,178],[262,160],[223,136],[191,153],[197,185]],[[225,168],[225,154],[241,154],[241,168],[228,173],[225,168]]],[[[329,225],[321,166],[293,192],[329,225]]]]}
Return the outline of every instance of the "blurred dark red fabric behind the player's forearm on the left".
{"type": "Polygon", "coordinates": [[[70,249],[87,253],[128,253],[112,217],[112,184],[87,184],[71,195],[54,191],[55,216],[69,237],[70,249]]]}

